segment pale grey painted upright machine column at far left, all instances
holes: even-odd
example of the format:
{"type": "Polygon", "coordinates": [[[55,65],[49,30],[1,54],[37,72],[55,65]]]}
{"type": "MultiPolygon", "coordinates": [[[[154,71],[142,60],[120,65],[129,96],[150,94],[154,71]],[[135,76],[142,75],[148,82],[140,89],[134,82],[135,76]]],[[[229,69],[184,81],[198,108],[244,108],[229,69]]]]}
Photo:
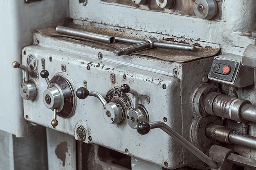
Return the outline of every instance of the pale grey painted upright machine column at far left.
{"type": "Polygon", "coordinates": [[[36,28],[63,22],[63,19],[67,17],[67,5],[67,0],[45,0],[33,3],[18,0],[0,3],[0,11],[4,16],[0,19],[2,23],[0,51],[1,59],[4,59],[4,62],[0,63],[2,72],[0,78],[4,81],[0,88],[8,89],[3,90],[2,96],[4,97],[0,98],[1,130],[15,134],[17,137],[31,135],[27,122],[22,116],[23,103],[17,88],[22,83],[22,71],[10,66],[13,61],[21,63],[21,49],[32,44],[36,28]],[[12,126],[9,126],[10,124],[12,126]]]}

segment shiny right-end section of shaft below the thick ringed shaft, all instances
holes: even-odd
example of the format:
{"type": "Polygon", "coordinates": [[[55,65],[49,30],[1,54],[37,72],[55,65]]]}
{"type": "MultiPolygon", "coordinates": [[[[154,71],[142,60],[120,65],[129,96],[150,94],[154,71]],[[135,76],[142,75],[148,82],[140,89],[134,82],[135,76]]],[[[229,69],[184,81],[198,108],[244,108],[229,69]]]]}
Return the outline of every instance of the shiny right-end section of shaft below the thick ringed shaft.
{"type": "Polygon", "coordinates": [[[243,135],[235,131],[229,133],[229,141],[233,144],[247,146],[256,149],[256,137],[243,135]]]}

